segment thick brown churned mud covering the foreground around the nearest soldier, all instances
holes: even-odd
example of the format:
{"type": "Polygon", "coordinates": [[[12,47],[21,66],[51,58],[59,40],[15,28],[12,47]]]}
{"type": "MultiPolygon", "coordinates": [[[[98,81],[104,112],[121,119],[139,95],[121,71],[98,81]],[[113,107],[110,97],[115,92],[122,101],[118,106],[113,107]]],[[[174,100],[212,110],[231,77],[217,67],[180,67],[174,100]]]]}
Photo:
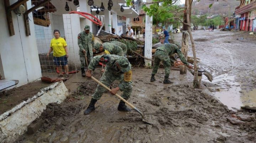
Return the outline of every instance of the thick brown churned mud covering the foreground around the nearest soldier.
{"type": "MultiPolygon", "coordinates": [[[[39,131],[22,135],[16,142],[255,142],[255,113],[229,110],[205,90],[193,89],[191,74],[171,71],[174,84],[164,85],[163,69],[159,69],[155,82],[149,81],[150,73],[151,69],[133,69],[134,86],[128,101],[145,116],[153,116],[154,125],[145,124],[134,110],[118,111],[119,99],[108,93],[96,103],[95,111],[84,115],[96,88],[93,80],[87,80],[71,95],[78,98],[49,104],[40,117],[43,123],[39,131]],[[238,125],[227,120],[239,114],[248,115],[250,120],[238,125]]],[[[95,77],[99,79],[100,73],[95,77]]],[[[116,86],[117,82],[113,84],[116,86]]]]}

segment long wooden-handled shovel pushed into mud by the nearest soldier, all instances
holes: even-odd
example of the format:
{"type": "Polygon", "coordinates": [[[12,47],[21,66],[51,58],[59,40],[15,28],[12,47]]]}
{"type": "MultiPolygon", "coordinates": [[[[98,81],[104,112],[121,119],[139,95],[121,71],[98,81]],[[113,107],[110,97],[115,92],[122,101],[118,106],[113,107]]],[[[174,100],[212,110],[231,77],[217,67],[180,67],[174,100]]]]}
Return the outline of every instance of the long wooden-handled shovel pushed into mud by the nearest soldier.
{"type": "MultiPolygon", "coordinates": [[[[106,85],[102,84],[100,81],[98,81],[97,79],[95,79],[93,76],[91,76],[91,78],[92,78],[94,81],[96,81],[98,84],[100,84],[101,86],[103,86],[104,88],[106,88],[108,91],[111,91],[110,88],[108,88],[106,85]]],[[[137,111],[137,112],[142,116],[142,121],[143,121],[143,122],[145,122],[145,123],[147,123],[147,124],[153,125],[153,123],[150,123],[150,121],[146,121],[144,115],[142,114],[142,112],[141,112],[139,109],[137,109],[136,107],[134,107],[132,104],[130,104],[128,101],[126,101],[126,99],[122,98],[122,97],[119,96],[118,94],[115,94],[115,96],[117,96],[118,98],[120,98],[123,102],[125,102],[127,105],[129,105],[132,109],[134,109],[135,111],[137,111]]],[[[152,117],[151,117],[151,118],[147,118],[147,119],[152,119],[152,117]]]]}

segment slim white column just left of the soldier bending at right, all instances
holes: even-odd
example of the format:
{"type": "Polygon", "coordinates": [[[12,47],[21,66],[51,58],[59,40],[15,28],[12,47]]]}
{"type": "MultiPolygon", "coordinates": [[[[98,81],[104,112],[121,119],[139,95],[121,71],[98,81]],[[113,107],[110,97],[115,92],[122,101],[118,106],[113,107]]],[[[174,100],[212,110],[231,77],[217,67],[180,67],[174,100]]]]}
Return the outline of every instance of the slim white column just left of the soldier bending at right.
{"type": "MultiPolygon", "coordinates": [[[[146,2],[152,2],[152,0],[146,0],[146,2]]],[[[150,5],[147,5],[148,7],[150,5]]],[[[145,54],[146,58],[152,59],[152,27],[153,27],[153,17],[148,16],[146,14],[146,22],[145,22],[145,54]]],[[[148,59],[144,59],[145,67],[151,66],[151,61],[148,59]]]]}

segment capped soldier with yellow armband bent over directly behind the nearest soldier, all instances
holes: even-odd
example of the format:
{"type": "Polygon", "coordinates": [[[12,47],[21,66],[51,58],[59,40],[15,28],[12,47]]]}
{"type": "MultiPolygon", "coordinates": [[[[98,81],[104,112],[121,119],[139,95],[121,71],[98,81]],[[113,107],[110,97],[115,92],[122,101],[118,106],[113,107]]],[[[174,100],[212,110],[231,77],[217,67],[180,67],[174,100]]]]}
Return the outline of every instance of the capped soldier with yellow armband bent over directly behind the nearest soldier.
{"type": "Polygon", "coordinates": [[[105,54],[123,56],[122,48],[109,42],[105,42],[103,44],[98,43],[94,48],[96,53],[104,52],[105,54]]]}

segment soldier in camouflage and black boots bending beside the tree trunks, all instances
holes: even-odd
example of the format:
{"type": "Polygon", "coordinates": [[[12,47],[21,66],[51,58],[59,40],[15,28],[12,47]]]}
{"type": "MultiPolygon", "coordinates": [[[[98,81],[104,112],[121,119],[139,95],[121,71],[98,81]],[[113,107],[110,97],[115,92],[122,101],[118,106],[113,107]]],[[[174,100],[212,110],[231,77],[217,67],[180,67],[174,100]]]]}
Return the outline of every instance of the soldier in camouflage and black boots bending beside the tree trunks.
{"type": "Polygon", "coordinates": [[[164,44],[156,48],[155,52],[155,58],[154,58],[154,66],[151,74],[151,79],[150,81],[153,82],[155,81],[155,74],[158,70],[159,64],[162,61],[164,64],[164,69],[165,69],[165,79],[164,79],[164,84],[170,84],[172,83],[169,80],[169,74],[170,74],[170,67],[171,67],[171,62],[169,56],[173,55],[174,53],[177,53],[178,56],[180,57],[181,61],[188,66],[188,68],[192,68],[192,66],[187,62],[186,58],[183,56],[181,53],[181,46],[179,44],[164,44]]]}

